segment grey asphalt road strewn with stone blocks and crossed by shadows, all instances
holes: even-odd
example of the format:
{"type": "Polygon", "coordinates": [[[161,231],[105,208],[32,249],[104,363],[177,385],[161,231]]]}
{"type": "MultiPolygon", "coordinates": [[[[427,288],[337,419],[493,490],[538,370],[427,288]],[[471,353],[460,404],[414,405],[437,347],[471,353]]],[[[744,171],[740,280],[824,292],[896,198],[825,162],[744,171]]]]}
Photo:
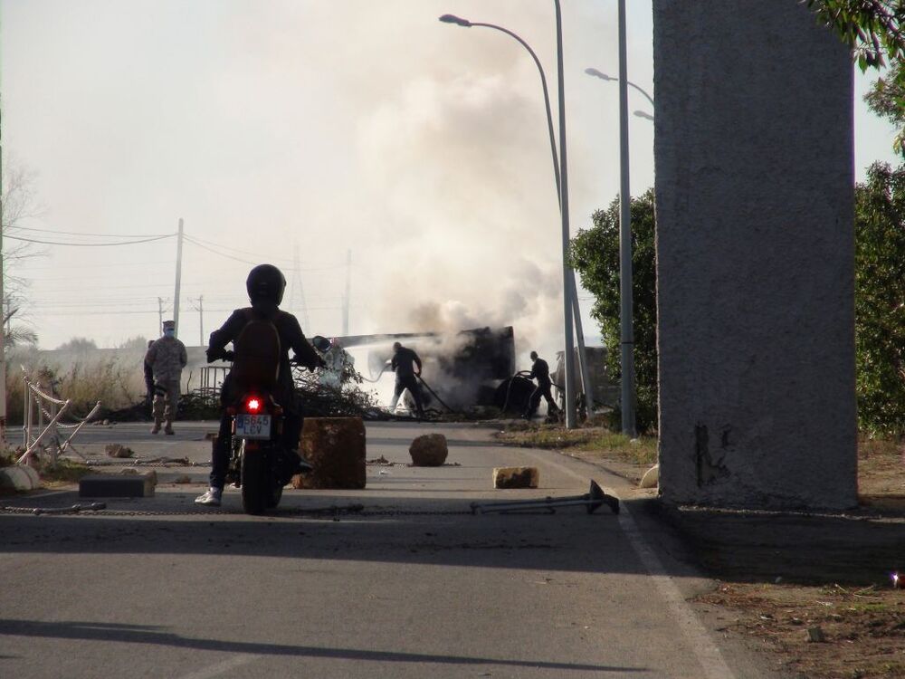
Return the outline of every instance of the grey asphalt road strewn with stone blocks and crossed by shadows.
{"type": "MultiPolygon", "coordinates": [[[[143,458],[204,463],[211,423],[152,436],[91,427],[143,458]]],[[[615,516],[472,515],[476,501],[586,493],[594,466],[495,445],[481,426],[371,424],[367,489],[287,491],[271,516],[194,504],[206,467],[158,468],[157,494],[110,500],[115,515],[0,512],[0,676],[738,677],[776,676],[729,646],[717,612],[685,599],[712,587],[668,531],[624,502],[615,516]],[[415,435],[449,439],[448,464],[415,468],[415,435]],[[494,466],[540,468],[537,491],[493,491],[494,466]],[[188,474],[193,485],[170,483],[188,474]],[[303,513],[361,503],[365,512],[303,513]]],[[[80,502],[72,491],[0,498],[80,502]]],[[[87,502],[87,501],[81,501],[87,502]]]]}

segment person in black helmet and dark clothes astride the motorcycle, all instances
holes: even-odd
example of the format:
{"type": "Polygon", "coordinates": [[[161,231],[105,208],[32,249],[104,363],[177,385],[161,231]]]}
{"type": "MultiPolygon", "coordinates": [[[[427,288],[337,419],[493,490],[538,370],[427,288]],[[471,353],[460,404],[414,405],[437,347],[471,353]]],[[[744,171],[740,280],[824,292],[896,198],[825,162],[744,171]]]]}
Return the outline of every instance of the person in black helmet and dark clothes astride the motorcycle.
{"type": "MultiPolygon", "coordinates": [[[[245,282],[251,307],[237,309],[226,320],[219,330],[211,333],[207,347],[208,363],[224,357],[226,345],[239,337],[245,325],[252,320],[270,320],[280,335],[280,369],[277,387],[272,396],[284,412],[283,444],[291,454],[292,469],[287,473],[298,473],[310,470],[310,463],[298,454],[299,435],[301,432],[300,406],[296,403],[295,388],[292,381],[289,349],[295,352],[295,359],[301,365],[313,370],[323,366],[315,350],[305,339],[299,320],[291,313],[280,310],[283,292],[286,290],[286,278],[272,264],[259,264],[248,274],[245,282]]],[[[203,495],[195,498],[198,504],[219,507],[223,495],[226,473],[229,468],[229,444],[232,437],[232,417],[225,411],[225,406],[232,404],[241,394],[234,393],[231,375],[227,375],[221,387],[221,404],[224,406],[220,417],[220,432],[212,451],[210,488],[203,495]]]]}

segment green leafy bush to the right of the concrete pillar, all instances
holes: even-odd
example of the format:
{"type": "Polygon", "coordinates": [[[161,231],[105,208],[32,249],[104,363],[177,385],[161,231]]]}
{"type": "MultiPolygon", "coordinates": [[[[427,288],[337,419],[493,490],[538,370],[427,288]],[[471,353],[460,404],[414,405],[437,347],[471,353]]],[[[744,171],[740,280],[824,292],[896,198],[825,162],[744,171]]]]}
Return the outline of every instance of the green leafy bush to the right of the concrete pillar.
{"type": "Polygon", "coordinates": [[[905,434],[905,166],[855,188],[855,347],[862,431],[905,434]]]}

